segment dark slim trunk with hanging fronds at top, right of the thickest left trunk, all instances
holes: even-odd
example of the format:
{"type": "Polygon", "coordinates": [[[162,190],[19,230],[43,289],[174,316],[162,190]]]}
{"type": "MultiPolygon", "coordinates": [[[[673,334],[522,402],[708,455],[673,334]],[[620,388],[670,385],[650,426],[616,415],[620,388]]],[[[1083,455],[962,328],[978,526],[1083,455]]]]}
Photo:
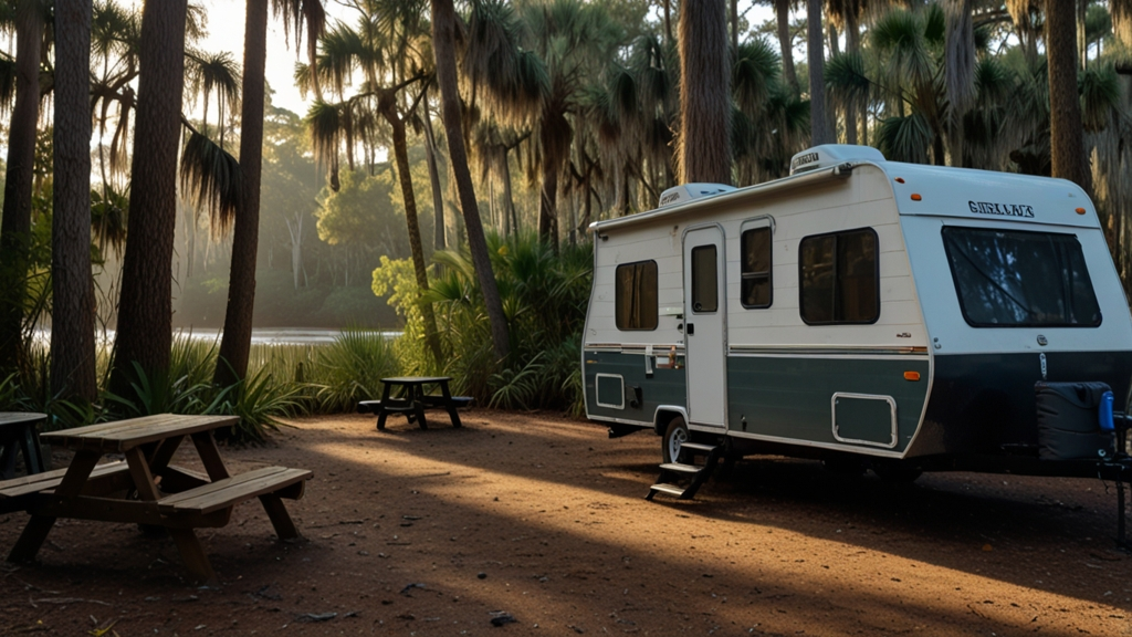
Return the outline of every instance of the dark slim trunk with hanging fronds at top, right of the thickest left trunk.
{"type": "MultiPolygon", "coordinates": [[[[308,54],[314,60],[326,23],[321,0],[273,0],[276,16],[301,43],[307,25],[308,54]]],[[[238,212],[232,229],[232,270],[228,286],[224,336],[214,382],[231,385],[248,372],[251,317],[256,298],[256,252],[259,246],[259,184],[264,159],[264,69],[267,63],[268,0],[247,0],[243,34],[243,105],[240,116],[240,178],[238,212]]]]}

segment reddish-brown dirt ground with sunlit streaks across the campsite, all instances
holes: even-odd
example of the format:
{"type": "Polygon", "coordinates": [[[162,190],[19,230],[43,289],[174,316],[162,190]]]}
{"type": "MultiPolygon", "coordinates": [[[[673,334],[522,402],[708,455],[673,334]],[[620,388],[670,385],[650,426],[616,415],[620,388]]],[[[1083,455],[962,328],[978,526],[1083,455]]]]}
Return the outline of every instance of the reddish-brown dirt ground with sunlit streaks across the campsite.
{"type": "MultiPolygon", "coordinates": [[[[315,478],[288,502],[305,541],[276,542],[255,501],[198,532],[212,586],[186,580],[168,538],[61,520],[38,563],[0,566],[0,634],[1132,635],[1132,555],[1099,481],[892,486],[757,458],[695,501],[646,502],[651,433],[464,424],[309,418],[223,449],[238,472],[315,478]],[[515,622],[494,627],[503,613],[515,622]]],[[[0,551],[26,520],[0,516],[0,551]]]]}

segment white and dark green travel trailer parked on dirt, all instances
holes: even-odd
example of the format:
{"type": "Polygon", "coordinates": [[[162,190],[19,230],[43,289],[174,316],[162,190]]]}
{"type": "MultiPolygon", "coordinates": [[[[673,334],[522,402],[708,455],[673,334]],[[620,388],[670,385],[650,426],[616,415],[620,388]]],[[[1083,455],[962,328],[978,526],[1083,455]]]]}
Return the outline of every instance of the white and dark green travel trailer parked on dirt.
{"type": "Polygon", "coordinates": [[[1103,419],[1100,385],[1058,383],[1121,408],[1132,379],[1129,305],[1072,182],[825,145],[783,179],[679,186],[590,229],[586,415],[660,434],[666,470],[693,474],[692,452],[1129,476],[1096,419],[1070,435],[1083,453],[1055,435],[1069,407],[1039,427],[1043,388],[1103,419]]]}

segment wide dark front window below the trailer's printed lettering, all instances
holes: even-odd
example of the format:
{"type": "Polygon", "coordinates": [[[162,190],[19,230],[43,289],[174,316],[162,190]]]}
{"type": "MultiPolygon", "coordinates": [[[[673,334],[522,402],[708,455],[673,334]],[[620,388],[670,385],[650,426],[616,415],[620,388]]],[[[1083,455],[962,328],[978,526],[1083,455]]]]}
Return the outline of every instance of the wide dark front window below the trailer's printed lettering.
{"type": "Polygon", "coordinates": [[[949,226],[943,245],[968,324],[1100,324],[1100,306],[1074,235],[949,226]]]}

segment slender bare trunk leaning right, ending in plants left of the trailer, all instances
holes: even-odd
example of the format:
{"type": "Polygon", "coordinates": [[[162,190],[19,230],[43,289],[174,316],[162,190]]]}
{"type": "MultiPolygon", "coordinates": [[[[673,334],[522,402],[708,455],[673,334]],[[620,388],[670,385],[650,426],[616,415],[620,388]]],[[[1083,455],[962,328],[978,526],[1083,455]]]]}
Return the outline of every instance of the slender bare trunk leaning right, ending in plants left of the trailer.
{"type": "Polygon", "coordinates": [[[503,312],[499,288],[491,271],[488,243],[483,236],[475,190],[472,187],[472,173],[468,169],[468,154],[464,151],[460,88],[456,78],[456,9],[453,0],[430,0],[430,3],[432,51],[436,56],[436,77],[440,86],[445,136],[448,138],[448,161],[452,162],[456,189],[460,193],[460,207],[463,209],[464,226],[468,230],[468,247],[472,253],[475,277],[483,294],[488,321],[491,323],[491,342],[495,346],[496,357],[501,360],[511,353],[511,342],[507,334],[507,316],[503,312]]]}

